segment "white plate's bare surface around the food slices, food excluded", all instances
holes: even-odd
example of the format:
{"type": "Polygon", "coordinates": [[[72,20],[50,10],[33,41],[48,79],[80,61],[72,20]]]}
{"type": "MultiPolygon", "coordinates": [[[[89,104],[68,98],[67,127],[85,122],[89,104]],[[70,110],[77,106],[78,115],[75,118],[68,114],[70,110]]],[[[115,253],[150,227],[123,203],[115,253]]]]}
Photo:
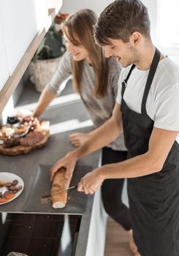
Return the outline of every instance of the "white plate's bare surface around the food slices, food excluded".
{"type": "MultiPolygon", "coordinates": [[[[4,203],[9,203],[10,201],[15,200],[15,198],[18,197],[23,192],[24,183],[22,178],[20,178],[15,173],[0,173],[0,181],[12,182],[15,179],[18,181],[18,184],[16,186],[22,186],[22,189],[15,193],[15,197],[9,199],[7,202],[4,203]]],[[[7,191],[6,187],[0,187],[0,192],[4,193],[5,191],[7,191]]],[[[0,203],[0,205],[3,205],[4,203],[0,203]]]]}

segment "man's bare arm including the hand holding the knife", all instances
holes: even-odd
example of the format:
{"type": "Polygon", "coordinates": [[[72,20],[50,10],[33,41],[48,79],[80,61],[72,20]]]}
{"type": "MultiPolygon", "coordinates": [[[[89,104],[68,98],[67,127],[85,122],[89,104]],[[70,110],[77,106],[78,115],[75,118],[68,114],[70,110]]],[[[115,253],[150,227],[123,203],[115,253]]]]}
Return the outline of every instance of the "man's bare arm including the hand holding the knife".
{"type": "Polygon", "coordinates": [[[178,131],[153,128],[148,152],[117,164],[104,165],[88,173],[78,189],[86,194],[96,191],[106,178],[135,178],[159,172],[178,135],[178,131]]]}

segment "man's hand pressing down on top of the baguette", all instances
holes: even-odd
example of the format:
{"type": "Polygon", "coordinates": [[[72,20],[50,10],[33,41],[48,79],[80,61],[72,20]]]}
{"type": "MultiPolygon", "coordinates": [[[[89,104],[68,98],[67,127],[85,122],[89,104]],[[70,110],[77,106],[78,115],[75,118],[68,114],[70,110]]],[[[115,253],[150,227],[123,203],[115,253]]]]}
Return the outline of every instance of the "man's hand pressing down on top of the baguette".
{"type": "Polygon", "coordinates": [[[66,168],[65,178],[72,176],[76,162],[77,159],[72,152],[69,152],[65,157],[59,159],[50,169],[50,181],[53,181],[53,176],[61,167],[66,168]]]}

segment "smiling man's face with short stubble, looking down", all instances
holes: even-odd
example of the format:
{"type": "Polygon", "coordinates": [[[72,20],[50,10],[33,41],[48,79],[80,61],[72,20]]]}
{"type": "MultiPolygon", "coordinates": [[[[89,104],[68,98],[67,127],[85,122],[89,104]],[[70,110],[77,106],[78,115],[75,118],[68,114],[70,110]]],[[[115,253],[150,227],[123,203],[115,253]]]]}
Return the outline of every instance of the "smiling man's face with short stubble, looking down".
{"type": "Polygon", "coordinates": [[[105,45],[105,56],[113,56],[122,67],[128,67],[139,61],[139,53],[131,42],[123,42],[121,39],[110,39],[110,45],[105,45]]]}

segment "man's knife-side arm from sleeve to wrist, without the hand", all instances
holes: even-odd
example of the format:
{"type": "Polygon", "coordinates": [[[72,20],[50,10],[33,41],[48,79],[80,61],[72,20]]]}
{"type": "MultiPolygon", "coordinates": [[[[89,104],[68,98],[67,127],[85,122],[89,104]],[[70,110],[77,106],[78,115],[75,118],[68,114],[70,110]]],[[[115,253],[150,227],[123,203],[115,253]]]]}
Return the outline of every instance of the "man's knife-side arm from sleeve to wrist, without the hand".
{"type": "MultiPolygon", "coordinates": [[[[159,172],[167,155],[172,148],[178,135],[178,131],[153,128],[149,142],[148,152],[140,156],[133,157],[124,162],[119,162],[110,173],[106,170],[105,178],[134,178],[159,172]]],[[[109,166],[110,168],[110,166],[109,166]]]]}

